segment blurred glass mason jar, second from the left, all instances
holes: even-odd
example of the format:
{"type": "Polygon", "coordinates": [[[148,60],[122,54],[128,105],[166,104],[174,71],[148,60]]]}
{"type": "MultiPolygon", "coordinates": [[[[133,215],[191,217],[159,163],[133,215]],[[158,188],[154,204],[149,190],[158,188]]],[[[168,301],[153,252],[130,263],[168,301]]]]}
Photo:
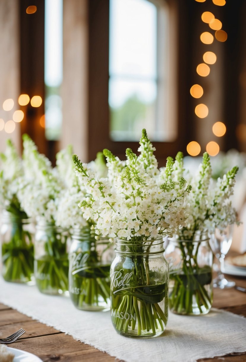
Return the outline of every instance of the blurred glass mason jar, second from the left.
{"type": "Polygon", "coordinates": [[[34,273],[40,292],[69,295],[68,231],[49,223],[38,223],[34,240],[34,273]]]}

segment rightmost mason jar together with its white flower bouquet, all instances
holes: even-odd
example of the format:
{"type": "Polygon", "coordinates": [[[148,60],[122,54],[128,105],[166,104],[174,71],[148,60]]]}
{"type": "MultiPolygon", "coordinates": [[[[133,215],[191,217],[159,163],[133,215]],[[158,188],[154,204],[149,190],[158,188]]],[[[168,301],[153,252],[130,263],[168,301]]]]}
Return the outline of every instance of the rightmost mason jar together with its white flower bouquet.
{"type": "MultiPolygon", "coordinates": [[[[181,153],[177,164],[177,172],[184,175],[181,153]]],[[[170,261],[169,303],[173,312],[204,314],[211,308],[212,252],[208,234],[215,228],[223,229],[237,222],[236,210],[230,200],[237,171],[238,167],[233,167],[223,178],[218,178],[214,186],[210,158],[205,152],[198,173],[187,175],[192,185],[185,206],[189,216],[186,226],[178,230],[166,250],[170,261]]]]}

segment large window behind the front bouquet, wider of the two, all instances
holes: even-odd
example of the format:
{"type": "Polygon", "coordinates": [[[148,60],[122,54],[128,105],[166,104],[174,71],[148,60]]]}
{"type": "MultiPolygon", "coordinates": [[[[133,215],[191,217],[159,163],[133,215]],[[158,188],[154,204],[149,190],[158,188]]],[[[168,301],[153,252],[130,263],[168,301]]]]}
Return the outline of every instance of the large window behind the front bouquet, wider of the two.
{"type": "Polygon", "coordinates": [[[146,128],[170,141],[168,8],[164,0],[110,0],[109,118],[113,141],[137,141],[146,128]]]}

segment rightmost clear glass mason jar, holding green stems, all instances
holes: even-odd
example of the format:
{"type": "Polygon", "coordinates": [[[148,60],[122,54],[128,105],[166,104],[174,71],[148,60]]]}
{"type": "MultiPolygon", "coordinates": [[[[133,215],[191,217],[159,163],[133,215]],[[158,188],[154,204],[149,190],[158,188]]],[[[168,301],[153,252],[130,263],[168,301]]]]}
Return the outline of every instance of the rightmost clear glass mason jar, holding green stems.
{"type": "Polygon", "coordinates": [[[213,254],[207,233],[193,240],[168,238],[166,258],[170,268],[169,307],[171,312],[200,315],[212,305],[213,254]]]}

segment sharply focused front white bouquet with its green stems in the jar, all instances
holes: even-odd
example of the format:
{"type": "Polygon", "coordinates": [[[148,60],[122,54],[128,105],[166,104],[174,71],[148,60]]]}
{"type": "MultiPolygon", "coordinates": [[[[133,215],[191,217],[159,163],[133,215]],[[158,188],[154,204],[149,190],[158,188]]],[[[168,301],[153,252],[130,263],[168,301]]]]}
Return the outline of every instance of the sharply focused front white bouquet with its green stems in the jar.
{"type": "Polygon", "coordinates": [[[139,337],[154,336],[157,330],[161,333],[163,323],[167,323],[168,273],[160,269],[160,277],[158,271],[153,272],[149,253],[155,240],[160,244],[163,235],[172,235],[185,226],[184,199],[190,191],[185,179],[175,174],[176,161],[171,157],[166,168],[158,169],[154,150],[145,130],[139,156],[128,148],[127,160],[120,161],[104,150],[109,168],[106,178],[96,177],[73,156],[76,173],[89,194],[80,203],[84,217],[96,221],[98,235],[117,237],[129,252],[111,266],[114,327],[119,333],[131,335],[132,331],[139,337]],[[118,291],[113,275],[123,272],[121,285],[126,288],[118,291]]]}

